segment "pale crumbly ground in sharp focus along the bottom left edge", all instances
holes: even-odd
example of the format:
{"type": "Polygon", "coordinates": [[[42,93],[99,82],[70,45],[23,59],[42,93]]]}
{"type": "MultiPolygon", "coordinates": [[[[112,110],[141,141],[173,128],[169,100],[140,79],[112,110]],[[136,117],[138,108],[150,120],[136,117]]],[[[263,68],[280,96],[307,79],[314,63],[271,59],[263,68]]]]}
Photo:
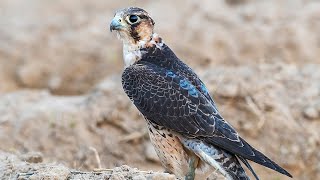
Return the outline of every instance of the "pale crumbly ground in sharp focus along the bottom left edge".
{"type": "Polygon", "coordinates": [[[168,173],[138,171],[123,165],[114,169],[100,169],[92,172],[77,171],[59,163],[42,163],[40,154],[12,155],[0,153],[0,176],[2,179],[110,179],[110,180],[174,180],[168,173]]]}

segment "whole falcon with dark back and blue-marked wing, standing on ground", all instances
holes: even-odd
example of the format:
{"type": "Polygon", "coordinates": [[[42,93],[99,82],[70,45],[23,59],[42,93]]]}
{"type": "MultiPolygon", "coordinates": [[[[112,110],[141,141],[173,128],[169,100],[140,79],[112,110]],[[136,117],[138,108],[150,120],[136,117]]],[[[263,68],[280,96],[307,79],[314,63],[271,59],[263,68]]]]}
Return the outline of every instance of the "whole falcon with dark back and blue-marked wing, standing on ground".
{"type": "Polygon", "coordinates": [[[206,179],[218,170],[245,180],[247,160],[292,177],[249,145],[221,116],[206,86],[154,33],[143,9],[118,10],[110,24],[123,42],[122,85],[145,117],[149,136],[167,172],[184,179],[206,179]],[[240,161],[239,161],[240,160],[240,161]]]}

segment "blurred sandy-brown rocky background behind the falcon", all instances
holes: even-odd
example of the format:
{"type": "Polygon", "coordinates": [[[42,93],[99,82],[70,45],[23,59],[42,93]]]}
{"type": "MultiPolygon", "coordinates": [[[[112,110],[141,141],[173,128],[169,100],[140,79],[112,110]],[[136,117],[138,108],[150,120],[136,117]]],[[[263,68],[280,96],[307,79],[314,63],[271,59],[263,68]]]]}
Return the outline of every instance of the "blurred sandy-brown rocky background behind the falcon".
{"type": "MultiPolygon", "coordinates": [[[[222,115],[294,179],[320,177],[320,1],[1,0],[0,158],[163,171],[109,23],[139,6],[222,115]],[[1,155],[2,154],[2,155],[1,155]]],[[[252,163],[253,164],[253,163],[252,163]]],[[[289,179],[253,164],[261,179],[289,179]]]]}

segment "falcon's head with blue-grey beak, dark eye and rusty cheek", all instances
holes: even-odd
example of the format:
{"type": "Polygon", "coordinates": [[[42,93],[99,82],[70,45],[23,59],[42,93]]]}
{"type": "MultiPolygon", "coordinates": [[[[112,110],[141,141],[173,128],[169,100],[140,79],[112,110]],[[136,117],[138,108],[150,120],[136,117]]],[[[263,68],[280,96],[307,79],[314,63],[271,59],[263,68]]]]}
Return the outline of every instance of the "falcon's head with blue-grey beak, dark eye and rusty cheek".
{"type": "Polygon", "coordinates": [[[154,21],[149,14],[137,7],[129,7],[116,12],[110,24],[110,31],[117,31],[124,43],[147,42],[153,35],[154,21]]]}

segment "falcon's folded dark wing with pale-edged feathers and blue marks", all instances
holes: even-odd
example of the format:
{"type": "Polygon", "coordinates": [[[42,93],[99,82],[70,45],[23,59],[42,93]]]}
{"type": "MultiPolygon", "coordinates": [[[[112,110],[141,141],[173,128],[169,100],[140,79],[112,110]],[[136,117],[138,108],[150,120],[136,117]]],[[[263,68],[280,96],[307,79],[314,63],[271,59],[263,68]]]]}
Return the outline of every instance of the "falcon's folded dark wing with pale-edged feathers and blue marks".
{"type": "Polygon", "coordinates": [[[239,141],[236,131],[221,118],[212,102],[184,76],[144,62],[125,70],[123,87],[153,123],[186,136],[239,141]]]}

